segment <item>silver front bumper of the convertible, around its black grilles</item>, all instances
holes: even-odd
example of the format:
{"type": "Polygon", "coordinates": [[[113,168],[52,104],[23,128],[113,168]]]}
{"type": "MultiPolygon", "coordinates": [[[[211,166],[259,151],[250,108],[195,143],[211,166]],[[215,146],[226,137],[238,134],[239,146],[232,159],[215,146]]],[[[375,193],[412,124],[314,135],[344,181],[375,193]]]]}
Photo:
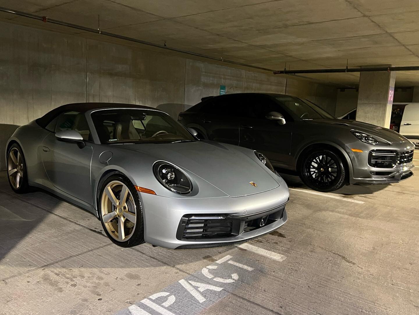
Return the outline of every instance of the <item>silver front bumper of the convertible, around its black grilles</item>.
{"type": "MultiPolygon", "coordinates": [[[[139,193],[144,217],[144,240],[166,248],[204,248],[240,243],[276,230],[287,221],[285,204],[290,193],[287,184],[269,191],[241,197],[169,198],[139,193]],[[282,211],[283,210],[283,211],[282,211]],[[193,215],[222,215],[245,221],[279,212],[269,224],[255,230],[243,231],[228,238],[183,240],[179,228],[183,217],[193,215]]],[[[243,226],[242,226],[243,227],[243,226]]]]}

